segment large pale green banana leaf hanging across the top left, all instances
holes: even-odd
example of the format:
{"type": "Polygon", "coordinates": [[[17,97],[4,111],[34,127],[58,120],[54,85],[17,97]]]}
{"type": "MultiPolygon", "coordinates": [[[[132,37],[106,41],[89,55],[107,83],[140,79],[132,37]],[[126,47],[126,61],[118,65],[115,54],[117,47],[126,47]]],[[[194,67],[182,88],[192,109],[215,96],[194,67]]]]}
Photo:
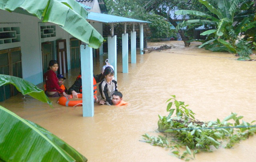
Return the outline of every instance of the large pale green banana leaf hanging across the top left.
{"type": "Polygon", "coordinates": [[[0,0],[0,9],[23,8],[43,22],[53,22],[76,38],[98,48],[103,37],[86,21],[88,12],[75,0],[0,0]]]}

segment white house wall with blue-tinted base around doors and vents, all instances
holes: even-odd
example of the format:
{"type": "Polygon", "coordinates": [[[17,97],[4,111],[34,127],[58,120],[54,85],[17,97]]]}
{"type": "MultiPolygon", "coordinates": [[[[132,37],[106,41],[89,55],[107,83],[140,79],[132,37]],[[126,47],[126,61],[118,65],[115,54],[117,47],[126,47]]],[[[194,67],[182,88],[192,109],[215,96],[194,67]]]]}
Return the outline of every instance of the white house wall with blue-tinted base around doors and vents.
{"type": "MultiPolygon", "coordinates": [[[[69,64],[69,34],[61,27],[53,23],[42,23],[40,19],[35,16],[8,12],[1,9],[0,15],[0,27],[20,27],[20,42],[0,44],[0,50],[18,46],[21,47],[22,72],[24,79],[34,84],[43,82],[43,65],[41,53],[42,42],[66,39],[68,55],[67,60],[69,64]],[[56,36],[41,38],[41,33],[39,32],[41,25],[55,25],[56,36]]],[[[68,66],[68,69],[69,68],[70,66],[68,66]]]]}

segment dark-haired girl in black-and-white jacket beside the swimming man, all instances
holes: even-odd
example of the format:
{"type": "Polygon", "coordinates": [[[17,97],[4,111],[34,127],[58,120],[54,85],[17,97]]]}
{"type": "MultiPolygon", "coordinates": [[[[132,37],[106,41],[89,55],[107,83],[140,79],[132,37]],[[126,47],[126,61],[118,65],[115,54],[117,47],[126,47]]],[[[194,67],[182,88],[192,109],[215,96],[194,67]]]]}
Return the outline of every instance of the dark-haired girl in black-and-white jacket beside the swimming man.
{"type": "Polygon", "coordinates": [[[114,79],[114,70],[111,66],[104,69],[104,79],[99,83],[99,92],[101,95],[100,104],[112,105],[112,94],[117,90],[117,81],[114,79]]]}

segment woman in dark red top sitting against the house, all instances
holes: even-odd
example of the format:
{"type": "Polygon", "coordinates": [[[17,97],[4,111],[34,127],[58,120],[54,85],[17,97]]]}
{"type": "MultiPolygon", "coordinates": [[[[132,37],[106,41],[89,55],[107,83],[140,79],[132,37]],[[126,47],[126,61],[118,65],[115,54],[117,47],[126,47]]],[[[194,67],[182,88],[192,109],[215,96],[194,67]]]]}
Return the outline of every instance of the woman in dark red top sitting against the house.
{"type": "Polygon", "coordinates": [[[55,73],[58,68],[58,62],[56,60],[50,60],[48,71],[44,74],[44,79],[46,83],[45,94],[48,97],[59,97],[60,94],[63,94],[64,96],[70,98],[70,96],[65,91],[63,91],[63,89],[61,89],[58,84],[58,77],[55,73]]]}

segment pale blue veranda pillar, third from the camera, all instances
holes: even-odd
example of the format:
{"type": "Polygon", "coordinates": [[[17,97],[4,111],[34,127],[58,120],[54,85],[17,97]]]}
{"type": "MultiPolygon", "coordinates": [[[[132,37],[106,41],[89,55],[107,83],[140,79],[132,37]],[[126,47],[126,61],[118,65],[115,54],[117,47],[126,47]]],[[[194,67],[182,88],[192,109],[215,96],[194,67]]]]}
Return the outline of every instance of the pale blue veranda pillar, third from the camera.
{"type": "Polygon", "coordinates": [[[122,72],[128,73],[128,33],[122,34],[122,72]]]}

